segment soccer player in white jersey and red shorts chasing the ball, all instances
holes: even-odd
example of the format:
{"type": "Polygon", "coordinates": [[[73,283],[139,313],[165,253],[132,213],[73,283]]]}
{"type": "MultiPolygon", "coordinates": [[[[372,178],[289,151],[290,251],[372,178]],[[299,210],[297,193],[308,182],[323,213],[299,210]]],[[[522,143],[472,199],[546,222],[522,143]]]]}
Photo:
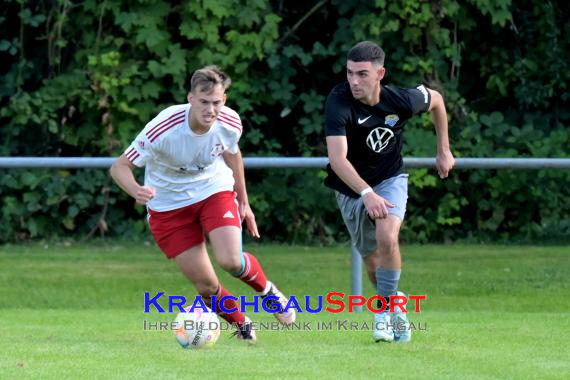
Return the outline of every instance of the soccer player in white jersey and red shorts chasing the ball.
{"type": "Polygon", "coordinates": [[[250,285],[291,324],[295,310],[285,312],[287,298],[267,280],[258,260],[242,251],[241,224],[259,238],[245,186],[238,141],[242,134],[237,112],[226,107],[230,78],[216,66],[197,70],[191,79],[188,103],[166,108],[151,120],[111,167],[115,182],[137,203],[146,205],[152,236],[167,258],[173,259],[194,284],[205,303],[226,321],[240,326],[238,338],[255,342],[250,320],[219,282],[206,251],[205,234],[225,271],[250,285]],[[145,167],[144,185],[133,169],[145,167]],[[269,297],[272,296],[272,297],[269,297]]]}

